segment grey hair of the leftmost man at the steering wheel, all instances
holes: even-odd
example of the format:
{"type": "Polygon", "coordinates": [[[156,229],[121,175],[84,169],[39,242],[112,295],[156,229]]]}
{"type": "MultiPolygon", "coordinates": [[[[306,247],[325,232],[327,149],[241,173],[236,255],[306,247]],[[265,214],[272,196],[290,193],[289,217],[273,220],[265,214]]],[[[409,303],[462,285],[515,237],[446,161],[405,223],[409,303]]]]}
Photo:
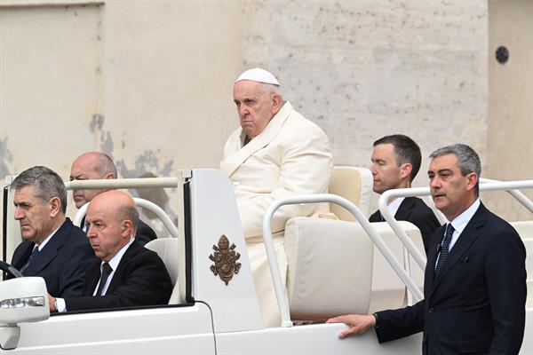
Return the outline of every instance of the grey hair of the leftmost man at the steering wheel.
{"type": "Polygon", "coordinates": [[[36,187],[36,198],[43,204],[48,203],[53,197],[61,201],[61,212],[67,212],[67,189],[61,177],[53,170],[44,166],[35,166],[24,170],[12,182],[11,188],[19,190],[24,186],[36,187]]]}

